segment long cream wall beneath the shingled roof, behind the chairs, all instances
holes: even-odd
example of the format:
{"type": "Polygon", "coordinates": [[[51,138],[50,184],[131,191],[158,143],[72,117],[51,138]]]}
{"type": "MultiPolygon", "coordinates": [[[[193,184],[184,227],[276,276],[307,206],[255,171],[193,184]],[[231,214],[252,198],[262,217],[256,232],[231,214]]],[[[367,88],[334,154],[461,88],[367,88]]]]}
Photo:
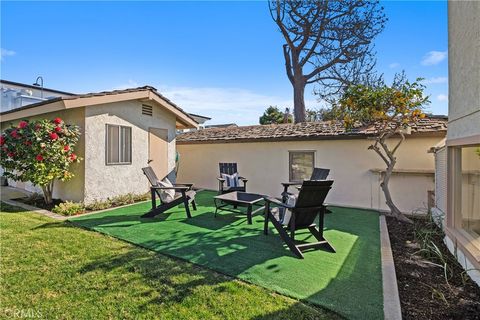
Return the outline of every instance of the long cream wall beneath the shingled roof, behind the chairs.
{"type": "MultiPolygon", "coordinates": [[[[431,174],[394,175],[391,191],[404,212],[426,208],[427,190],[434,189],[434,159],[428,149],[442,137],[407,138],[398,150],[397,169],[431,171],[431,174]]],[[[393,141],[391,141],[393,142],[393,141]]],[[[218,189],[218,163],[237,162],[239,173],[249,179],[250,192],[280,196],[281,182],[288,181],[289,151],[314,150],[315,166],[329,168],[335,180],[327,201],[331,204],[387,209],[380,176],[370,170],[384,168],[371,150],[370,142],[357,140],[321,140],[292,142],[178,144],[180,182],[218,189]]]]}

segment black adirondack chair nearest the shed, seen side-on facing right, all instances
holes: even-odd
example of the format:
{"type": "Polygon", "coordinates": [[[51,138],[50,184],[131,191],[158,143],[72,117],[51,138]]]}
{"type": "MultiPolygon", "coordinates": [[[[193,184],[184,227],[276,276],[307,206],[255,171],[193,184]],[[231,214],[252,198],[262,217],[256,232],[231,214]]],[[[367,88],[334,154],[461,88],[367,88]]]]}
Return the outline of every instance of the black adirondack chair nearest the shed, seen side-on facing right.
{"type": "MultiPolygon", "coordinates": [[[[173,187],[163,187],[158,184],[158,178],[153,171],[153,168],[148,166],[142,168],[143,173],[147,176],[148,181],[150,181],[151,187],[150,192],[152,196],[152,209],[144,214],[142,218],[153,218],[156,215],[167,211],[173,207],[178,206],[179,204],[185,205],[185,211],[187,213],[187,217],[191,218],[192,215],[190,214],[190,207],[189,205],[192,204],[193,210],[197,210],[197,205],[195,203],[195,191],[193,190],[193,183],[186,183],[186,184],[173,184],[173,187]],[[175,196],[172,201],[169,202],[162,202],[162,198],[160,197],[160,190],[165,189],[174,189],[175,196]],[[156,196],[160,199],[160,204],[157,206],[156,196]]],[[[169,174],[170,175],[170,174],[169,174]]],[[[168,177],[168,176],[167,176],[168,177]]]]}

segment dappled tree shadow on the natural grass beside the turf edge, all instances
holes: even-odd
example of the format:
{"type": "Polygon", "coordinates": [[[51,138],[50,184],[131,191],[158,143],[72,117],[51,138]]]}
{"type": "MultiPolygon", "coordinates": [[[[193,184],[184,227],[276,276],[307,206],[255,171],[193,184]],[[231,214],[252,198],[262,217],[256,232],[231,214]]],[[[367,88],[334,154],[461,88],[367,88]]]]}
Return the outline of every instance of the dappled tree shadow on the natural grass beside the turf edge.
{"type": "MultiPolygon", "coordinates": [[[[186,307],[188,307],[191,302],[186,302],[186,300],[189,299],[202,299],[198,303],[212,303],[213,299],[216,308],[219,310],[223,309],[222,305],[225,305],[225,308],[231,308],[231,282],[234,281],[234,278],[187,262],[179,263],[177,259],[171,259],[167,256],[143,250],[129,250],[124,254],[97,259],[85,264],[79,270],[80,273],[97,271],[105,273],[117,271],[120,275],[126,273],[140,274],[148,283],[148,288],[144,288],[141,293],[143,297],[147,298],[147,302],[140,307],[140,312],[149,309],[150,304],[186,303],[186,307]],[[204,300],[205,294],[208,295],[207,300],[210,302],[204,300]]],[[[253,287],[250,287],[250,285],[241,283],[238,283],[238,285],[245,292],[241,293],[241,291],[235,289],[235,294],[252,294],[253,287]]],[[[269,302],[275,305],[275,299],[278,299],[278,297],[268,291],[264,291],[264,293],[265,298],[268,297],[269,301],[258,301],[258,303],[269,302]]],[[[256,310],[253,312],[264,312],[262,308],[258,308],[258,305],[239,305],[238,314],[241,315],[244,309],[249,308],[256,310]]],[[[252,313],[252,311],[248,311],[248,313],[252,313]]],[[[319,319],[319,315],[325,314],[329,315],[329,319],[340,319],[330,311],[309,307],[300,302],[294,302],[292,305],[272,313],[254,316],[252,319],[319,319]]]]}

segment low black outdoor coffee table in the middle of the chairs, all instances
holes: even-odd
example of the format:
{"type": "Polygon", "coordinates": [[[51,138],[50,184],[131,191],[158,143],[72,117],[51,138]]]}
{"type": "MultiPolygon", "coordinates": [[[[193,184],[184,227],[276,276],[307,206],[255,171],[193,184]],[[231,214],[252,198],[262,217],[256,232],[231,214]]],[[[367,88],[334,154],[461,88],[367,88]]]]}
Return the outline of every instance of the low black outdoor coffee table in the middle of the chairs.
{"type": "Polygon", "coordinates": [[[225,194],[218,195],[213,197],[213,201],[215,202],[215,216],[217,216],[218,210],[230,211],[230,212],[241,212],[239,210],[235,210],[237,206],[240,207],[247,207],[247,221],[248,224],[252,224],[252,215],[261,211],[265,208],[260,202],[263,201],[263,197],[260,194],[255,193],[247,193],[247,192],[229,192],[225,194]],[[253,206],[260,206],[260,208],[255,209],[253,211],[253,206]],[[233,206],[233,209],[226,208],[227,206],[233,206]]]}

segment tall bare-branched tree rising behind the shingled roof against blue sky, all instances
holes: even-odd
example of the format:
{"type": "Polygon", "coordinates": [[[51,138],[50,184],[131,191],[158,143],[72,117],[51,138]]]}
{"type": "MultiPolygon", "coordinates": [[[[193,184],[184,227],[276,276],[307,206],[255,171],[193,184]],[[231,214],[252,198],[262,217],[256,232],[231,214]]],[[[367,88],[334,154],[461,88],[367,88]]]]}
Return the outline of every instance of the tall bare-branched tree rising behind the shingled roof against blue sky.
{"type": "Polygon", "coordinates": [[[372,71],[373,40],[386,21],[378,1],[271,0],[269,9],[288,46],[283,54],[295,122],[305,121],[307,84],[316,83],[326,97],[372,71]]]}

